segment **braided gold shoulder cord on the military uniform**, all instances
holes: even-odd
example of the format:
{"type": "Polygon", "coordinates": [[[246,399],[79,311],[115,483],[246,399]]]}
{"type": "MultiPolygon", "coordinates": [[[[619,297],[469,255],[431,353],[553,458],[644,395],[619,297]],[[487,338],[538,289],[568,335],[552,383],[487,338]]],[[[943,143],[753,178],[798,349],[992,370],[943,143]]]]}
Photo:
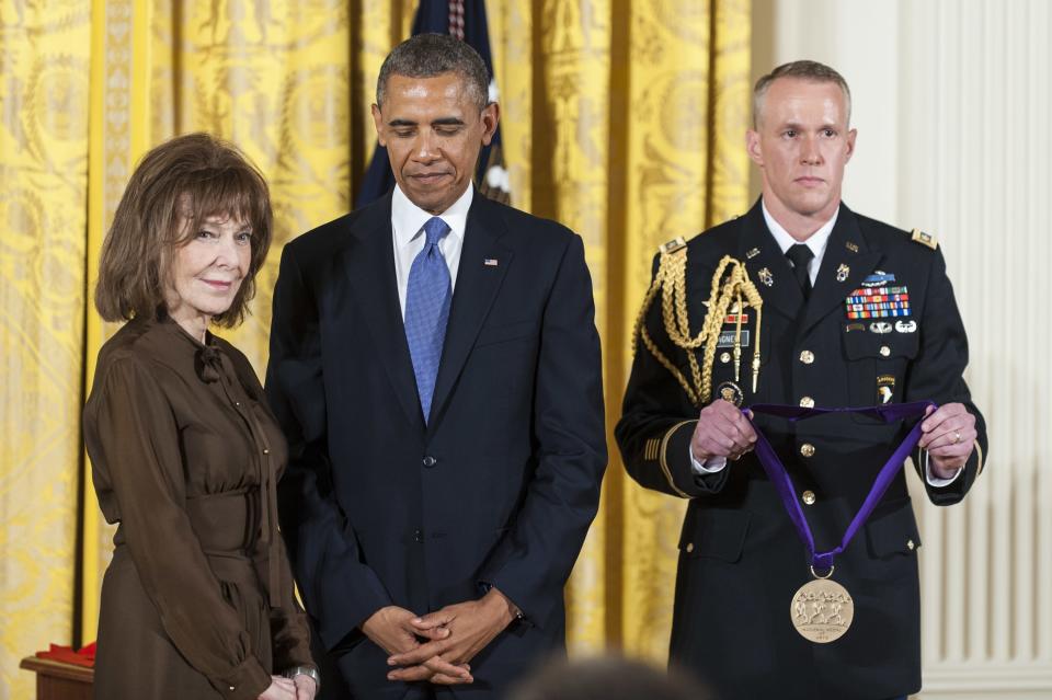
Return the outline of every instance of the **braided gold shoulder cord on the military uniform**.
{"type": "MultiPolygon", "coordinates": [[[[702,406],[709,402],[712,394],[712,365],[716,362],[717,348],[731,348],[736,382],[741,375],[742,348],[748,348],[752,344],[751,369],[753,393],[755,393],[759,381],[759,333],[764,300],[755,285],[750,282],[745,264],[730,255],[724,255],[720,260],[712,275],[709,299],[702,302],[706,308],[705,321],[695,334],[690,331],[687,308],[687,245],[683,239],[676,239],[662,245],[660,251],[658,272],[636,318],[636,329],[632,333],[633,352],[637,349],[637,343],[642,341],[650,354],[676,378],[690,402],[696,406],[702,406]],[[672,344],[684,351],[689,377],[658,346],[647,328],[647,314],[659,295],[663,329],[672,344]],[[746,307],[752,308],[751,312],[745,312],[746,307]],[[756,317],[756,324],[753,337],[750,337],[750,331],[743,330],[742,326],[748,323],[752,314],[756,317]],[[723,331],[724,323],[732,323],[734,329],[723,331]],[[701,351],[700,363],[696,352],[698,349],[701,351]]],[[[727,353],[721,354],[722,363],[730,359],[723,359],[727,353]]],[[[741,405],[744,400],[741,388],[734,382],[727,383],[733,385],[736,390],[736,392],[730,390],[728,395],[731,400],[736,397],[735,405],[741,405]]],[[[724,389],[725,387],[721,385],[719,389],[721,397],[724,389]]]]}

